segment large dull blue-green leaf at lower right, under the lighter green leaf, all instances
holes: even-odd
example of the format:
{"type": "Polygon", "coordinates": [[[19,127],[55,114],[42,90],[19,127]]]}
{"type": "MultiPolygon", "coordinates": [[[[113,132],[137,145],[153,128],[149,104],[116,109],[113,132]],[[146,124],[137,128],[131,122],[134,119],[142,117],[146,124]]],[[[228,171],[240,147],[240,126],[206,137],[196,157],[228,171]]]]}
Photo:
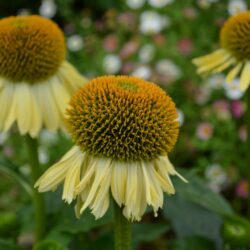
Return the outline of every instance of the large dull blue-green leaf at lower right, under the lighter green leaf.
{"type": "Polygon", "coordinates": [[[197,235],[216,242],[217,246],[222,245],[222,218],[180,195],[166,198],[163,215],[170,220],[177,237],[197,235]]]}

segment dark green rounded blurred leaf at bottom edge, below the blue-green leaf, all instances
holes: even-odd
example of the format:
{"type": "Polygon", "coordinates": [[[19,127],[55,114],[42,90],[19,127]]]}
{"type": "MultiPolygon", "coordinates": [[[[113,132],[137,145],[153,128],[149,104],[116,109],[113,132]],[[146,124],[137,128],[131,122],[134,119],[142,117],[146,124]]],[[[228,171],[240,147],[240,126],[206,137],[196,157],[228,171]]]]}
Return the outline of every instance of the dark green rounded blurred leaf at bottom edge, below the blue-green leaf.
{"type": "Polygon", "coordinates": [[[190,236],[178,240],[173,250],[212,250],[215,249],[214,243],[204,237],[190,236]]]}

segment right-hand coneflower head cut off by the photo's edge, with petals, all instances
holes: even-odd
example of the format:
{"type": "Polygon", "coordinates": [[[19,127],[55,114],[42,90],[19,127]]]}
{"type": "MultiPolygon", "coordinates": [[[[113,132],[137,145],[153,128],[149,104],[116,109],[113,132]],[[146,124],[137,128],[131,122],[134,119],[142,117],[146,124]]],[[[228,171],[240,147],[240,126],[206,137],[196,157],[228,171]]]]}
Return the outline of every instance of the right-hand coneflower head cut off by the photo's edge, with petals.
{"type": "Polygon", "coordinates": [[[226,81],[230,83],[240,74],[240,88],[246,90],[250,83],[250,12],[230,17],[220,33],[221,48],[215,52],[198,57],[193,63],[198,73],[213,74],[229,67],[226,81]]]}

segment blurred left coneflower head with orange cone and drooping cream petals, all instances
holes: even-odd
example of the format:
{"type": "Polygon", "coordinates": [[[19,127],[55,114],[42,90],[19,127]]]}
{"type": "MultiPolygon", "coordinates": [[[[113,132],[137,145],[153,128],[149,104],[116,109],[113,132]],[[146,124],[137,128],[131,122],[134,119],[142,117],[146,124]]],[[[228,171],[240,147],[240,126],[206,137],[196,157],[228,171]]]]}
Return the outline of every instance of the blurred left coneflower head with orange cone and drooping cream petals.
{"type": "Polygon", "coordinates": [[[64,35],[39,16],[0,20],[0,131],[56,131],[70,96],[86,80],[65,61],[64,35]]]}

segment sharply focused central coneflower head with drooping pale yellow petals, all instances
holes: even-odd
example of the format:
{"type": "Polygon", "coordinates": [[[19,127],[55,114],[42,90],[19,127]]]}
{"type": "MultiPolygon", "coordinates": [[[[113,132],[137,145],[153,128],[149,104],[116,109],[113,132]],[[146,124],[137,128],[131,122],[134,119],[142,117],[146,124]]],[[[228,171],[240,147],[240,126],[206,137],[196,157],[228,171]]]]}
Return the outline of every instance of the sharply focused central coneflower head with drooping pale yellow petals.
{"type": "Polygon", "coordinates": [[[64,181],[62,199],[77,200],[80,216],[96,218],[109,207],[110,193],[129,220],[139,221],[147,205],[155,215],[163,192],[174,194],[168,159],[179,125],[172,99],[155,84],[128,76],[96,78],[81,88],[67,109],[76,144],[37,181],[40,192],[64,181]]]}

